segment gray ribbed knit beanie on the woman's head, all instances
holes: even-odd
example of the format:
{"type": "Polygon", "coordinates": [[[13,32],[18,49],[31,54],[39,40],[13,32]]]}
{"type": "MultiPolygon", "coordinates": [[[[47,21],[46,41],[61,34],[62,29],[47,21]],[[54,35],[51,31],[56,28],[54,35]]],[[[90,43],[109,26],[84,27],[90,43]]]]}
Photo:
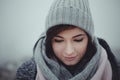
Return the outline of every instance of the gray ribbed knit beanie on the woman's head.
{"type": "Polygon", "coordinates": [[[54,0],[46,17],[46,30],[59,24],[80,27],[93,40],[94,24],[88,0],[54,0]]]}

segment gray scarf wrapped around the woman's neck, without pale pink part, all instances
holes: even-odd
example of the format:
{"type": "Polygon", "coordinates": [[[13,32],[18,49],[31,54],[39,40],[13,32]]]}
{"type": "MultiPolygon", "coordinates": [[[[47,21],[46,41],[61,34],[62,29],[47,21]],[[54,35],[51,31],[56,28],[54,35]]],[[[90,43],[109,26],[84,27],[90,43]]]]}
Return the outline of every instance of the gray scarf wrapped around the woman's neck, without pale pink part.
{"type": "Polygon", "coordinates": [[[96,69],[98,68],[101,53],[101,47],[96,38],[94,39],[94,44],[97,48],[97,52],[87,63],[85,68],[75,76],[71,75],[71,73],[64,66],[60,65],[55,59],[49,59],[46,56],[45,39],[45,35],[42,35],[38,41],[34,58],[46,80],[90,80],[93,77],[96,69]]]}

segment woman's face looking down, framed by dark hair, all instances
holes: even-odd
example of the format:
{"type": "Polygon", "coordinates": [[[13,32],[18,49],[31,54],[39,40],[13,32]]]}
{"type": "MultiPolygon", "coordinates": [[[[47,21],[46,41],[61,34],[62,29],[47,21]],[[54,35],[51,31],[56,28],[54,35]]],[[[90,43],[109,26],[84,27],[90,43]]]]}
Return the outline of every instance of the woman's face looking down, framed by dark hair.
{"type": "Polygon", "coordinates": [[[88,36],[79,28],[62,31],[52,39],[55,55],[68,66],[75,65],[81,60],[87,44],[88,36]]]}

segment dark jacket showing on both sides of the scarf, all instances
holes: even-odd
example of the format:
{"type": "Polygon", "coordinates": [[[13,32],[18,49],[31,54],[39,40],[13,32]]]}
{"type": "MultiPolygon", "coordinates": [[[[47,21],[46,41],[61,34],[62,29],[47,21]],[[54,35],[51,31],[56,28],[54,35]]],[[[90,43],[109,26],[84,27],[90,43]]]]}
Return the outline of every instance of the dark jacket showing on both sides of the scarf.
{"type": "MultiPolygon", "coordinates": [[[[98,38],[100,45],[107,51],[108,59],[112,66],[113,77],[112,80],[120,80],[120,66],[118,65],[114,54],[105,40],[98,38]]],[[[37,73],[34,59],[23,63],[17,70],[15,80],[35,80],[37,73]]]]}

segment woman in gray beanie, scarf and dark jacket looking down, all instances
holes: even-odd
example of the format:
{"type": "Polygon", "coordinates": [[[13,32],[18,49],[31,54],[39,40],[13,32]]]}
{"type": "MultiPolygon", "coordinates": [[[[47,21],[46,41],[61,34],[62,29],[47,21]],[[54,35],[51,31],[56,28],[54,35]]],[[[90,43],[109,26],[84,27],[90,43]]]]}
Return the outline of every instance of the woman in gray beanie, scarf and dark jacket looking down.
{"type": "Polygon", "coordinates": [[[94,35],[87,0],[55,0],[33,58],[16,80],[119,80],[108,44],[94,35]]]}

